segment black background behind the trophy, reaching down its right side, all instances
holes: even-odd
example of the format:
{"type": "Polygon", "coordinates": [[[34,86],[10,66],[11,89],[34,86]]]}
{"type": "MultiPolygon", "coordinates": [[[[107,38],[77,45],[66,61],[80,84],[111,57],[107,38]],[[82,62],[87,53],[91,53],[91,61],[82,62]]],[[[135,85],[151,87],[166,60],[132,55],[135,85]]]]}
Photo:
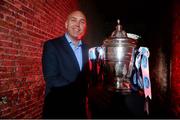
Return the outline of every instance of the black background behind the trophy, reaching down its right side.
{"type": "MultiPolygon", "coordinates": [[[[117,19],[128,33],[140,35],[149,48],[152,84],[151,117],[170,117],[171,0],[80,0],[87,15],[90,46],[100,46],[111,35],[117,19]]],[[[103,101],[102,101],[103,102],[103,101]]]]}

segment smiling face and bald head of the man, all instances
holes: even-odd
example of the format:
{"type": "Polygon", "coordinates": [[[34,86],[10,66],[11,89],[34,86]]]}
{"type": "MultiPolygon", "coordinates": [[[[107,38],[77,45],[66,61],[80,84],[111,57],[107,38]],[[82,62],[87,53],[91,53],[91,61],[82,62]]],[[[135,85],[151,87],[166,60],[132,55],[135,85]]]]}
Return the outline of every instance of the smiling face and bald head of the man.
{"type": "Polygon", "coordinates": [[[65,27],[70,37],[80,40],[86,32],[86,18],[80,11],[75,11],[68,16],[65,27]]]}

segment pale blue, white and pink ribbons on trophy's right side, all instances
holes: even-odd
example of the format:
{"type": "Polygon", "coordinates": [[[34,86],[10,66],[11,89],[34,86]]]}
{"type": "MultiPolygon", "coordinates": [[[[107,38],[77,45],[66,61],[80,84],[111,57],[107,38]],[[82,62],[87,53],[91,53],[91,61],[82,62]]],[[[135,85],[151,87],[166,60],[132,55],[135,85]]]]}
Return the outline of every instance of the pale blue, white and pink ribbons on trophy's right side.
{"type": "Polygon", "coordinates": [[[144,90],[145,95],[145,110],[149,114],[148,97],[152,99],[151,82],[149,77],[149,50],[147,47],[140,47],[135,60],[136,73],[133,76],[134,84],[144,90]],[[140,71],[141,70],[141,71],[140,71]]]}

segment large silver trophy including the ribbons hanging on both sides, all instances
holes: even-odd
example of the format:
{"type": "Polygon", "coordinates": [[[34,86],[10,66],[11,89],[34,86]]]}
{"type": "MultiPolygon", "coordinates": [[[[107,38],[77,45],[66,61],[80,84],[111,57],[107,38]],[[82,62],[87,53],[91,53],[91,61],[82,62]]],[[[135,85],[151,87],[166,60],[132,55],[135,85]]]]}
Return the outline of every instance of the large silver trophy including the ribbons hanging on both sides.
{"type": "Polygon", "coordinates": [[[132,92],[144,95],[144,109],[149,114],[148,101],[152,99],[149,49],[138,45],[140,36],[126,33],[120,20],[117,23],[116,30],[101,46],[89,49],[89,86],[122,95],[132,92]]]}

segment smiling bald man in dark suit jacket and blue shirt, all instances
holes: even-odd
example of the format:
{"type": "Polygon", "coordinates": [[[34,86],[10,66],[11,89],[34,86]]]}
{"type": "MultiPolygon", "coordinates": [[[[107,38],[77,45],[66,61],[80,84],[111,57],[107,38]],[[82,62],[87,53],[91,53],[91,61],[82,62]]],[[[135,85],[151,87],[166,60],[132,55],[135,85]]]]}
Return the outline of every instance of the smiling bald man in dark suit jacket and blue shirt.
{"type": "Polygon", "coordinates": [[[72,12],[67,32],[44,43],[42,64],[46,81],[43,118],[85,118],[88,48],[82,41],[86,17],[72,12]]]}

